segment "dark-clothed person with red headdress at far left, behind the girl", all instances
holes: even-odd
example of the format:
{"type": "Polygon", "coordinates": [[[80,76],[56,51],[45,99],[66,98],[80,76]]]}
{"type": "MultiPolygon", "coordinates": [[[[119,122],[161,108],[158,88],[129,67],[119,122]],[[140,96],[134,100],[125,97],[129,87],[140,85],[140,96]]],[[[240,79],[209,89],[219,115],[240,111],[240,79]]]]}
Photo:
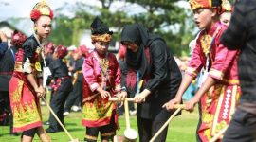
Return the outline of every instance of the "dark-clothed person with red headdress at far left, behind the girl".
{"type": "Polygon", "coordinates": [[[15,63],[15,53],[24,44],[27,36],[15,30],[11,35],[11,46],[5,52],[4,56],[0,58],[0,115],[6,115],[5,122],[9,123],[9,134],[17,135],[13,133],[13,116],[11,114],[9,105],[9,80],[12,76],[15,63]]]}

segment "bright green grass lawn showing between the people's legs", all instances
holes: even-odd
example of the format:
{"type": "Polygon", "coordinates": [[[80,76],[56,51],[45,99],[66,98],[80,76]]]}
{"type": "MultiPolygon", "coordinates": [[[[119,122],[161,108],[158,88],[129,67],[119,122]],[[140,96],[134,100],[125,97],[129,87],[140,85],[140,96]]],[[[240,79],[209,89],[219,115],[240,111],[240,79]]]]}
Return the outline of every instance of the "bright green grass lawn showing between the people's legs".
{"type": "MultiPolygon", "coordinates": [[[[42,107],[43,119],[47,120],[48,110],[46,106],[42,107]]],[[[71,113],[66,116],[65,126],[69,133],[74,138],[79,138],[83,140],[85,128],[81,125],[82,113],[71,113]]],[[[198,115],[197,112],[188,113],[183,111],[182,115],[174,117],[169,125],[167,142],[194,142],[195,140],[195,129],[197,125],[198,115]]],[[[131,127],[137,130],[137,117],[130,117],[131,127]]],[[[125,120],[124,116],[119,116],[119,126],[120,130],[118,135],[123,135],[125,129],[125,120]]],[[[46,129],[47,126],[45,125],[46,129]]],[[[19,142],[20,136],[9,136],[9,127],[0,126],[0,142],[19,142]]],[[[69,138],[64,132],[60,133],[49,133],[53,142],[68,142],[69,138]]],[[[38,136],[35,136],[34,141],[40,141],[38,136]]]]}

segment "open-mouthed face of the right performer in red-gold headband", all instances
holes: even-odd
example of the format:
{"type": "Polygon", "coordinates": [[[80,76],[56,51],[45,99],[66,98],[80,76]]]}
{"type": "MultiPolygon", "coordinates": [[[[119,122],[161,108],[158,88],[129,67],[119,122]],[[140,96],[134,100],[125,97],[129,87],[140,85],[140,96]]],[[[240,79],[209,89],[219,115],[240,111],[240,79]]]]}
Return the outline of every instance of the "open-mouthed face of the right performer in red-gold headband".
{"type": "Polygon", "coordinates": [[[213,17],[215,15],[215,9],[194,9],[193,21],[200,29],[210,29],[210,27],[214,24],[213,17]]]}

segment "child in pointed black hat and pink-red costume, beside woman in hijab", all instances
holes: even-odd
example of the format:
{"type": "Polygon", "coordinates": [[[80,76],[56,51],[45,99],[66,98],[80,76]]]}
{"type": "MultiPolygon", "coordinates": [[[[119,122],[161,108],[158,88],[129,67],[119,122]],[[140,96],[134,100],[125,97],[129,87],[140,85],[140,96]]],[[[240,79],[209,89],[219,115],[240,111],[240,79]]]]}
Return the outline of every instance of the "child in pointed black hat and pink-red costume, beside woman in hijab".
{"type": "Polygon", "coordinates": [[[112,31],[96,17],[91,24],[92,44],[95,50],[84,59],[82,65],[83,108],[82,125],[86,127],[85,141],[113,140],[117,130],[117,106],[108,101],[120,91],[119,62],[108,52],[112,31]]]}

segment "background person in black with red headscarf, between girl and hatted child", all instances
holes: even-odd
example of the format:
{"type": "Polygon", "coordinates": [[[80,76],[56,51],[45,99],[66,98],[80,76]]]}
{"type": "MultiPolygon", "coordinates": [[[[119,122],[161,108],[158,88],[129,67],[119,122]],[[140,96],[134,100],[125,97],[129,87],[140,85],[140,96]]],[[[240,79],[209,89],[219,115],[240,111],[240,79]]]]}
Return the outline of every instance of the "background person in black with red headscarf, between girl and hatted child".
{"type": "MultiPolygon", "coordinates": [[[[53,91],[50,99],[50,107],[63,124],[64,102],[73,87],[71,77],[68,75],[67,66],[63,61],[66,54],[66,47],[63,45],[58,45],[55,48],[52,55],[52,62],[49,64],[51,76],[47,79],[47,84],[53,80],[53,84],[51,85],[53,91]]],[[[52,114],[49,116],[49,122],[49,128],[46,129],[47,133],[63,131],[63,128],[52,114]]]]}

